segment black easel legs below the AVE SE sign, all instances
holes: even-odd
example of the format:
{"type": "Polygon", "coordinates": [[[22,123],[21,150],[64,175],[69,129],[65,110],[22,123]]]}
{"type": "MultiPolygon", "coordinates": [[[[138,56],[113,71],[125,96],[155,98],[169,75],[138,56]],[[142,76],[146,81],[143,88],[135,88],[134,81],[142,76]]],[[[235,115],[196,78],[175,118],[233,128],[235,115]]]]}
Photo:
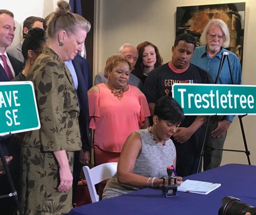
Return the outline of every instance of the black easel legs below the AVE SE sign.
{"type": "MultiPolygon", "coordinates": [[[[4,139],[4,138],[6,138],[6,137],[0,136],[0,141],[2,139],[4,139]]],[[[17,191],[16,191],[16,189],[14,187],[14,184],[13,184],[13,181],[12,181],[12,177],[11,177],[11,174],[10,174],[10,171],[9,171],[9,167],[8,167],[8,165],[6,163],[6,160],[5,160],[5,157],[4,157],[4,154],[3,154],[3,148],[2,148],[1,144],[0,144],[0,158],[1,158],[1,161],[3,163],[3,169],[5,171],[5,174],[7,176],[7,179],[8,179],[10,188],[11,188],[11,193],[5,194],[5,195],[0,195],[0,199],[1,198],[13,197],[13,200],[15,201],[16,206],[17,206],[17,208],[19,210],[19,214],[22,215],[22,210],[21,210],[21,206],[19,204],[17,191]]]]}

